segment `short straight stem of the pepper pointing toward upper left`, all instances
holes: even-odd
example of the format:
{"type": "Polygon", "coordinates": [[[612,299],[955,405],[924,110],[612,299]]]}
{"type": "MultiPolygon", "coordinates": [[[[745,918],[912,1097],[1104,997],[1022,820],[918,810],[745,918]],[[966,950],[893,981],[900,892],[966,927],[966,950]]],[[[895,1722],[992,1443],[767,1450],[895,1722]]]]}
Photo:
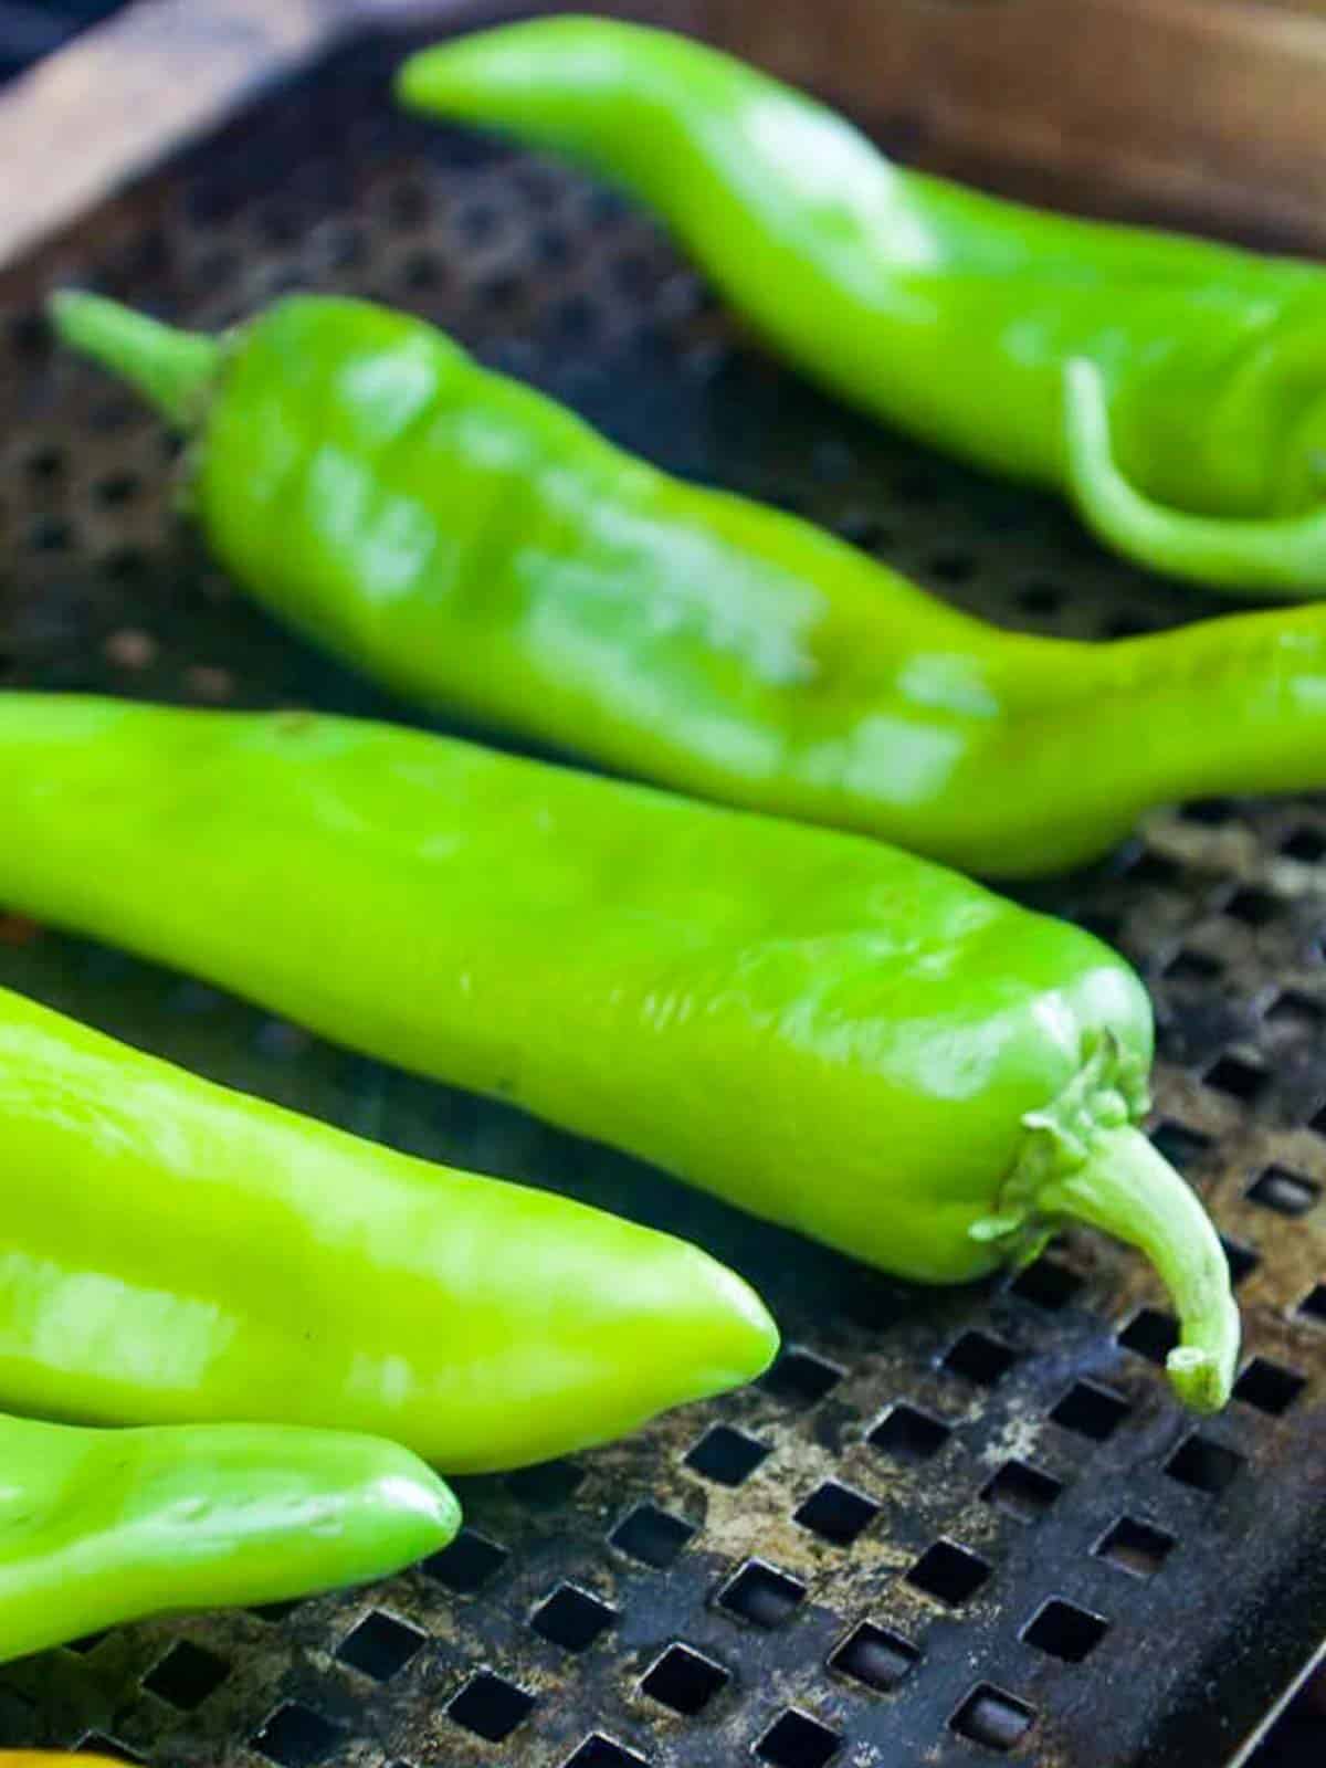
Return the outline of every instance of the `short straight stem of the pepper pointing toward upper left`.
{"type": "Polygon", "coordinates": [[[200,421],[221,361],[214,338],[72,288],[51,295],[48,315],[64,343],[127,380],[173,428],[200,421]]]}

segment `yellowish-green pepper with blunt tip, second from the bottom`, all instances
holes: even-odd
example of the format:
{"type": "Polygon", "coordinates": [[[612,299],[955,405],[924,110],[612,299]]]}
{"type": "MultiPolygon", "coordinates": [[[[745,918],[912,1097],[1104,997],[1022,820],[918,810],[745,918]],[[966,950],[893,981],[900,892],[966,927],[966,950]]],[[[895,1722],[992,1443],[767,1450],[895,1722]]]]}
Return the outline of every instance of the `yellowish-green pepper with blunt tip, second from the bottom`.
{"type": "MultiPolygon", "coordinates": [[[[110,804],[74,808],[92,783],[99,732],[111,769],[115,755],[150,762],[150,753],[134,755],[113,709],[65,713],[81,723],[65,750],[65,813],[113,822],[110,804]]],[[[154,714],[140,725],[143,735],[152,723],[154,714]]],[[[175,758],[187,766],[187,723],[180,735],[175,758]]],[[[366,926],[373,911],[352,903],[354,859],[339,879],[301,866],[283,875],[283,842],[265,833],[267,817],[281,813],[281,789],[267,794],[262,744],[255,750],[242,728],[217,735],[240,773],[248,755],[248,778],[226,836],[244,826],[240,847],[217,849],[214,863],[225,873],[239,861],[255,905],[265,902],[249,930],[262,962],[276,976],[290,958],[292,974],[313,988],[318,969],[336,995],[343,960],[364,990],[394,992],[380,1002],[385,1018],[426,1011],[419,972],[400,967],[410,923],[366,926]],[[302,912],[306,888],[338,903],[338,937],[320,958],[309,935],[322,911],[309,902],[302,912]],[[400,942],[394,979],[373,979],[366,967],[375,937],[400,942]]],[[[214,787],[200,780],[194,799],[182,774],[168,780],[166,755],[161,762],[156,787],[124,778],[113,790],[124,833],[141,813],[166,847],[175,829],[184,859],[191,838],[210,840],[214,787]]],[[[110,780],[103,774],[103,789],[110,780]]],[[[324,796],[318,815],[331,808],[324,796]]],[[[25,836],[16,829],[14,840],[25,836]]],[[[306,859],[315,849],[316,838],[306,859]]],[[[53,877],[60,861],[55,852],[50,861],[53,877]]],[[[179,907],[177,888],[189,889],[187,859],[175,870],[163,847],[157,861],[168,870],[156,880],[106,875],[143,926],[170,914],[168,902],[179,907]]],[[[110,852],[97,865],[113,865],[110,852]]],[[[212,935],[223,932],[212,912],[237,875],[217,882],[194,905],[198,930],[210,923],[212,935]]],[[[5,992],[0,1197],[0,1404],[21,1413],[350,1429],[472,1473],[619,1436],[668,1406],[751,1379],[776,1349],[760,1301],[695,1246],[548,1192],[361,1142],[5,992]]]]}

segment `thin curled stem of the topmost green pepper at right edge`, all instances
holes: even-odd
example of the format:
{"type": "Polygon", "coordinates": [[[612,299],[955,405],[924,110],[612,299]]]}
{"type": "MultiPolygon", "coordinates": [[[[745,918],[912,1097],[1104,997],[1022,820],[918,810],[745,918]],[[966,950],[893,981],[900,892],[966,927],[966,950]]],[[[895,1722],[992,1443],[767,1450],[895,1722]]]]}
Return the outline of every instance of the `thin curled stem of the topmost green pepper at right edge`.
{"type": "Polygon", "coordinates": [[[1291,598],[1326,592],[1326,509],[1246,520],[1153,502],[1114,458],[1105,382],[1084,357],[1064,368],[1064,442],[1068,490],[1082,520],[1124,557],[1208,589],[1291,598]]]}

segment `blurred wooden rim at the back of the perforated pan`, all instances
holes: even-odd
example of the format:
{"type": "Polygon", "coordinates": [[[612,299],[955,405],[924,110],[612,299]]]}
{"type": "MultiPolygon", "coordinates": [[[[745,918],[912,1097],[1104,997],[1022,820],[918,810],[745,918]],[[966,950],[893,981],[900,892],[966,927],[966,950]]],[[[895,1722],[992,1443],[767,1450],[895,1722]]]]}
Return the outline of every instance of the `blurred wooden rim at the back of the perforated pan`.
{"type": "MultiPolygon", "coordinates": [[[[138,0],[0,94],[0,262],[366,19],[426,27],[497,11],[492,0],[138,0]]],[[[1326,251],[1326,0],[598,11],[698,30],[956,175],[1326,251]]]]}

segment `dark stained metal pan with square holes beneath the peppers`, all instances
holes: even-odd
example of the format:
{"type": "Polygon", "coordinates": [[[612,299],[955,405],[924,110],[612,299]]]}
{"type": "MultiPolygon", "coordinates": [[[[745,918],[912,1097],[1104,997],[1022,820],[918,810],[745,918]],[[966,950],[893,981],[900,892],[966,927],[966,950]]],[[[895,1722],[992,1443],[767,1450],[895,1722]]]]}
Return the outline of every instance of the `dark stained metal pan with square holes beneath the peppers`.
{"type": "MultiPolygon", "coordinates": [[[[207,562],[171,514],[164,433],[34,318],[60,276],[202,325],[292,286],[385,299],[995,621],[1107,636],[1206,612],[1057,506],[774,368],[603,189],[392,117],[392,62],[338,55],[0,286],[5,681],[412,716],[207,562]]],[[[1322,865],[1326,801],[1208,803],[1029,893],[1116,941],[1156,999],[1156,1137],[1218,1215],[1248,1328],[1238,1400],[1200,1425],[1158,1368],[1158,1287],[1089,1236],[1010,1284],[909,1289],[0,919],[0,981],[361,1133],[686,1232],[789,1344],[764,1384],[575,1466],[461,1482],[460,1542],[389,1584],[11,1665],[0,1740],[198,1768],[1225,1761],[1326,1634],[1322,865]]]]}

